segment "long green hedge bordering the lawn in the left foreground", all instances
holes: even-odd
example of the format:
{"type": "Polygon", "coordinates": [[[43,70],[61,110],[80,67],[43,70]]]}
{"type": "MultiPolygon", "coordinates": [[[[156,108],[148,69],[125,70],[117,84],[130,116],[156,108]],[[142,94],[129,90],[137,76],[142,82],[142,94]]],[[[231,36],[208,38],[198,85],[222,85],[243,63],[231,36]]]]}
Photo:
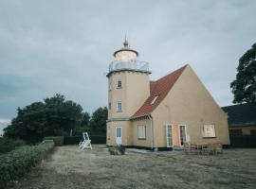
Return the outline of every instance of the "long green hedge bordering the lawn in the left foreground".
{"type": "Polygon", "coordinates": [[[10,180],[19,179],[41,163],[52,151],[53,146],[53,141],[46,141],[38,146],[21,146],[0,155],[0,188],[5,188],[10,180]]]}

